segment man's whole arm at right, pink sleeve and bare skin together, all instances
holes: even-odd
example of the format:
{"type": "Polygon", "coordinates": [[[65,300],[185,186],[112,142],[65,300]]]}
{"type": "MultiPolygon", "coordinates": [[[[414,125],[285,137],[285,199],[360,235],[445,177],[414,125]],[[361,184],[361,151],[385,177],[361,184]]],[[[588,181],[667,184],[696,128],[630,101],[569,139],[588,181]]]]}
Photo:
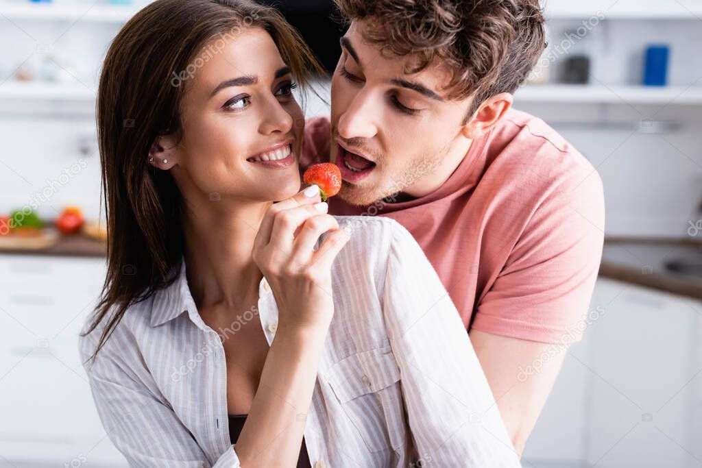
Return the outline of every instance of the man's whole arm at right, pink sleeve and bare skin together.
{"type": "MultiPolygon", "coordinates": [[[[588,316],[602,258],[602,181],[581,157],[571,156],[581,164],[567,168],[558,176],[562,182],[543,192],[469,330],[519,454],[568,345],[582,339],[578,325],[588,316]]],[[[543,175],[550,177],[555,175],[543,175]]]]}

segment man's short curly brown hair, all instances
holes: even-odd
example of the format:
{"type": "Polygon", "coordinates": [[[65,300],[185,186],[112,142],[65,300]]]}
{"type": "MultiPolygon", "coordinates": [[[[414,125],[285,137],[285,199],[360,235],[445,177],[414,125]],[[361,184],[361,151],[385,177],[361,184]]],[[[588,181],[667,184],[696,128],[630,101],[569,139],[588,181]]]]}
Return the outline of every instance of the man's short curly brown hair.
{"type": "Polygon", "coordinates": [[[411,56],[408,74],[434,60],[453,70],[449,99],[473,97],[468,116],[487,98],[514,93],[545,42],[538,0],[335,0],[347,21],[364,21],[364,40],[383,55],[411,56]]]}

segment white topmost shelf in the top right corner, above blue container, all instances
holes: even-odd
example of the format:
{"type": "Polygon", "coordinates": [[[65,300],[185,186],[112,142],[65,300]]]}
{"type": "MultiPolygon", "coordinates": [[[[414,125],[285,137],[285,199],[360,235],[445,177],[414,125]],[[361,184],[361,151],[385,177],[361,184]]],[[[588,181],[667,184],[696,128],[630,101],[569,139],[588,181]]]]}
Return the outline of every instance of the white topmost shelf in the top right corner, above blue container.
{"type": "Polygon", "coordinates": [[[549,19],[702,20],[701,0],[546,0],[549,19]]]}

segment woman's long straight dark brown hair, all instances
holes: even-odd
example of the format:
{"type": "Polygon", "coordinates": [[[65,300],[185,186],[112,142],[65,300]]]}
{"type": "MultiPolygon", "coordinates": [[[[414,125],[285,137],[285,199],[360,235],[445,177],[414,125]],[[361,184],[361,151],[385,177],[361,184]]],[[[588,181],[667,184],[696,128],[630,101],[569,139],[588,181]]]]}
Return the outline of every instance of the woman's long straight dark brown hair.
{"type": "Polygon", "coordinates": [[[250,27],[270,34],[302,88],[312,73],[323,73],[282,15],[251,0],[154,1],[126,23],[107,51],[97,102],[107,276],[81,335],[102,321],[107,325],[91,359],[128,307],[176,279],[183,203],[171,173],[153,168],[148,154],[158,135],[182,138],[185,88],[217,53],[217,41],[250,27]]]}

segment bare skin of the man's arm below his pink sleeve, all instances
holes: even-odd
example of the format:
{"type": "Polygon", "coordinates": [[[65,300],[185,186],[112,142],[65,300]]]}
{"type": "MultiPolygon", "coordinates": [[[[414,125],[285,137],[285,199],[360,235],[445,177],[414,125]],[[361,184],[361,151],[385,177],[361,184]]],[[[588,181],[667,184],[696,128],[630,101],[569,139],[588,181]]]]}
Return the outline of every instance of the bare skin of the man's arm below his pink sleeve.
{"type": "Polygon", "coordinates": [[[554,356],[548,353],[554,345],[493,335],[479,330],[470,331],[487,382],[497,401],[497,407],[519,456],[534,429],[538,415],[561,370],[566,347],[557,347],[554,356]],[[548,362],[541,358],[550,356],[548,362]],[[535,364],[538,363],[538,364],[535,364]],[[538,373],[528,375],[524,369],[540,365],[538,373]]]}

